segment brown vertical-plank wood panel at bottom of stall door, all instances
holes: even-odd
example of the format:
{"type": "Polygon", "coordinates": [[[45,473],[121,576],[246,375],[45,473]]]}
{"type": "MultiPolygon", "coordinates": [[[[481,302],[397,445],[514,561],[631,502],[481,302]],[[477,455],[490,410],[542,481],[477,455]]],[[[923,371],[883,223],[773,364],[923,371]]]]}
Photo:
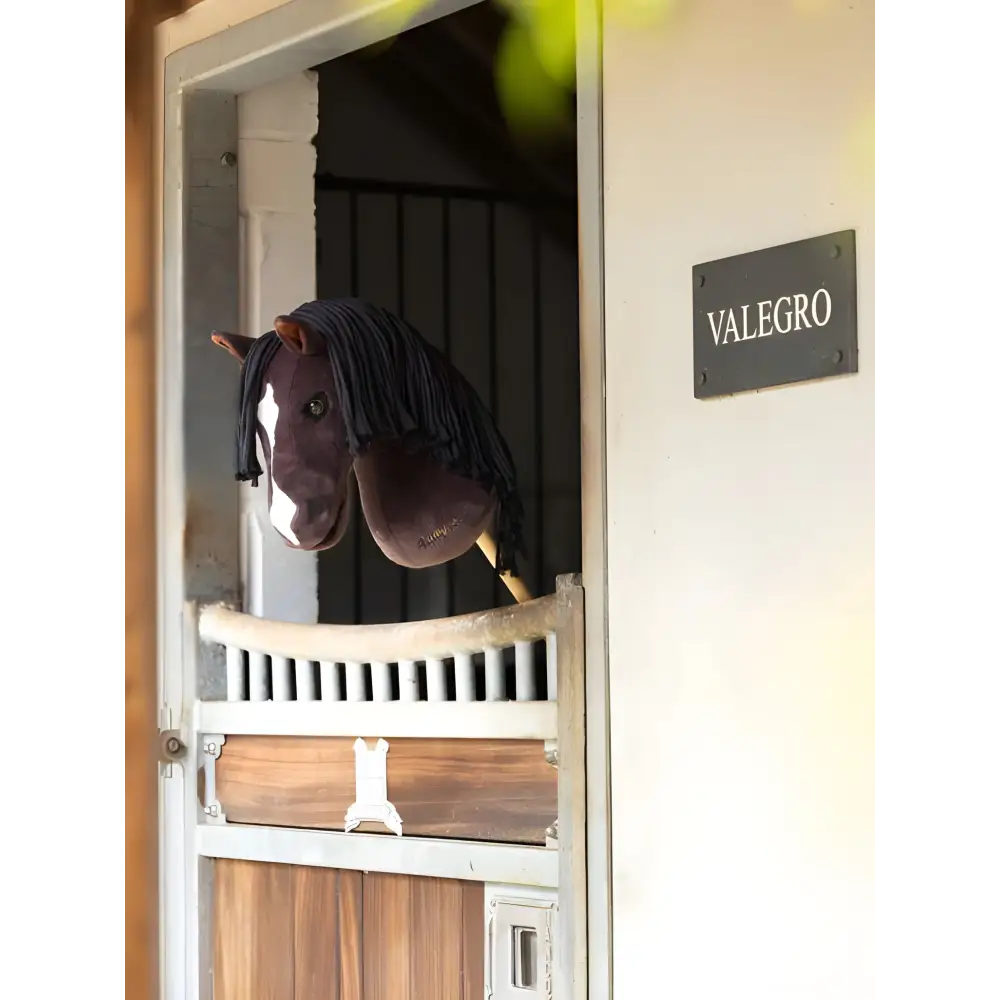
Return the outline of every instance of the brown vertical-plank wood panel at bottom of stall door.
{"type": "Polygon", "coordinates": [[[220,859],[214,1000],[480,1000],[478,882],[220,859]]]}

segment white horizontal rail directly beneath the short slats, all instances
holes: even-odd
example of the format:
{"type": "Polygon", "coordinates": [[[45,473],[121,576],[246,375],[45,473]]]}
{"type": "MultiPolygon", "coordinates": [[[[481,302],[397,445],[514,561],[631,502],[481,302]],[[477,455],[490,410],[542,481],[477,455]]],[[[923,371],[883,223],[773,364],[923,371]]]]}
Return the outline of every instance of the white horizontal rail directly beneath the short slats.
{"type": "Polygon", "coordinates": [[[196,729],[226,736],[553,740],[554,701],[199,701],[196,729]]]}

